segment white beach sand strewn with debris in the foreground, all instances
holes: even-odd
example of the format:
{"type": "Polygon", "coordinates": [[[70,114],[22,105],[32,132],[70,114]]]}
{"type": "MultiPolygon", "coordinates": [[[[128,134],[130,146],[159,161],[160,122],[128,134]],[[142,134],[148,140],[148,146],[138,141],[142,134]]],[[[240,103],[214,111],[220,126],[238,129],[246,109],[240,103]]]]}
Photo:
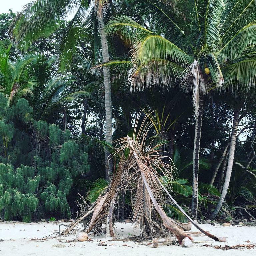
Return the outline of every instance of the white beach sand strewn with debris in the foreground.
{"type": "MultiPolygon", "coordinates": [[[[65,223],[69,224],[69,223],[65,223]]],[[[256,243],[256,227],[252,226],[212,226],[210,224],[201,225],[207,231],[219,237],[225,236],[226,242],[215,242],[206,236],[192,236],[195,243],[190,248],[182,248],[181,246],[159,245],[158,248],[151,248],[147,245],[136,244],[133,241],[109,241],[111,238],[94,237],[91,242],[73,242],[75,235],[69,237],[52,238],[47,240],[30,240],[33,238],[43,238],[54,232],[58,232],[59,224],[45,223],[22,223],[22,222],[0,222],[0,256],[23,256],[23,255],[40,255],[40,256],[65,256],[65,255],[111,255],[111,256],[162,256],[162,255],[189,255],[189,256],[222,256],[222,255],[256,255],[256,248],[248,249],[230,249],[220,250],[203,246],[222,245],[225,244],[255,244],[256,243]],[[101,241],[105,241],[107,246],[98,246],[101,241]],[[248,242],[250,241],[250,243],[248,242]],[[69,241],[69,242],[67,242],[69,241]],[[200,243],[196,243],[200,241],[200,243]],[[132,246],[133,248],[124,246],[132,246]]],[[[63,226],[62,226],[63,228],[63,226]]],[[[121,237],[132,234],[132,224],[118,223],[117,231],[121,237]],[[123,228],[123,229],[121,229],[123,228]]],[[[191,231],[197,231],[194,227],[191,231]]],[[[148,241],[150,242],[150,241],[148,241]]],[[[147,244],[148,242],[145,242],[147,244]]]]}

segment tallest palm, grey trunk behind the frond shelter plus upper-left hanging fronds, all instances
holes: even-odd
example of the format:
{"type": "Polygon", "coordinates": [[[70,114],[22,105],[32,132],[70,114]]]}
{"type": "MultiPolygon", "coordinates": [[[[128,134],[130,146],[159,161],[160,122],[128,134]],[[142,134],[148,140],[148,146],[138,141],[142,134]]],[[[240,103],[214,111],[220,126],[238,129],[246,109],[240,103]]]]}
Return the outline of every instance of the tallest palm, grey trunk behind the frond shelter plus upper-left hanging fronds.
{"type": "MultiPolygon", "coordinates": [[[[80,28],[84,27],[89,13],[90,0],[36,0],[25,5],[17,14],[9,29],[9,35],[15,41],[26,47],[39,37],[48,37],[57,26],[57,21],[65,20],[73,13],[63,32],[60,41],[58,60],[61,69],[66,67],[75,51],[76,41],[79,38],[80,28]]],[[[104,13],[110,8],[108,0],[95,0],[94,10],[98,21],[98,29],[101,38],[102,61],[109,61],[108,42],[105,34],[104,13]]],[[[97,30],[97,28],[96,28],[97,30]]],[[[107,67],[103,69],[105,87],[105,111],[106,111],[106,141],[112,143],[112,103],[110,72],[107,67]]],[[[106,178],[111,176],[112,164],[108,160],[109,152],[106,151],[106,178]]]]}

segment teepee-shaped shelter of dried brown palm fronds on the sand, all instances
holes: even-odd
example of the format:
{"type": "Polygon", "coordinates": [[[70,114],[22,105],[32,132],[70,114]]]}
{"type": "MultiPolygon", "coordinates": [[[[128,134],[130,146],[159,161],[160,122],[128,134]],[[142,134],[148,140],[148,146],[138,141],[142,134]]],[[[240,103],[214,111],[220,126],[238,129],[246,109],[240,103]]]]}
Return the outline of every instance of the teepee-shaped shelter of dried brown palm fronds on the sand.
{"type": "MultiPolygon", "coordinates": [[[[159,142],[157,136],[148,138],[147,135],[151,129],[152,123],[147,122],[145,118],[140,127],[138,123],[135,124],[132,137],[127,136],[115,141],[113,157],[119,160],[118,168],[114,170],[110,184],[106,186],[91,209],[74,224],[94,211],[87,226],[87,232],[96,232],[101,229],[102,223],[106,223],[107,235],[114,236],[112,229],[114,205],[117,203],[118,195],[130,191],[134,228],[139,228],[142,235],[156,236],[166,234],[169,230],[175,234],[180,244],[185,237],[192,240],[183,231],[190,230],[191,223],[179,223],[169,218],[164,212],[162,205],[165,204],[168,196],[201,232],[214,240],[222,241],[202,230],[183,211],[168,192],[171,190],[171,183],[166,183],[165,186],[162,184],[163,177],[172,179],[171,159],[161,154],[160,149],[165,141],[159,142]]],[[[63,234],[69,233],[74,224],[63,234]]]]}

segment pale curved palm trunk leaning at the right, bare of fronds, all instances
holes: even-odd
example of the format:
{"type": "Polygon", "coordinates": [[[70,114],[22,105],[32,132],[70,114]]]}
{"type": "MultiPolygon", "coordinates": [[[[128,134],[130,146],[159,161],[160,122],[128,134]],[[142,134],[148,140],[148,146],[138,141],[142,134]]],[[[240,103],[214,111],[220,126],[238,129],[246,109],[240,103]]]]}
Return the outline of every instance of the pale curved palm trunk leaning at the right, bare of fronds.
{"type": "Polygon", "coordinates": [[[232,173],[232,168],[233,168],[233,163],[234,163],[235,148],[236,148],[237,127],[238,127],[238,123],[239,123],[238,122],[239,110],[240,110],[240,108],[235,109],[235,111],[234,111],[233,128],[232,128],[232,133],[231,133],[231,137],[230,137],[230,148],[229,148],[226,177],[225,177],[224,186],[223,186],[223,189],[221,192],[220,200],[219,200],[214,212],[209,216],[209,219],[211,219],[211,220],[215,219],[218,216],[218,214],[224,204],[225,197],[228,193],[228,186],[229,186],[229,182],[230,182],[230,178],[231,178],[231,173],[232,173]]]}

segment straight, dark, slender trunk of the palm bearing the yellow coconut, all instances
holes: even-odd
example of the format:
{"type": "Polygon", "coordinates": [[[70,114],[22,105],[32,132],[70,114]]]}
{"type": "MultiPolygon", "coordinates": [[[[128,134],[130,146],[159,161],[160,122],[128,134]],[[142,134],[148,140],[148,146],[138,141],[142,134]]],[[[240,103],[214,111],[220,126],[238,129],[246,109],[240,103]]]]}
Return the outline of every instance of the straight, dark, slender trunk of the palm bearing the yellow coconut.
{"type": "Polygon", "coordinates": [[[198,170],[199,170],[199,152],[200,152],[200,139],[201,129],[203,120],[203,107],[204,107],[204,96],[200,93],[199,96],[199,110],[198,116],[196,117],[195,126],[195,139],[194,139],[194,150],[193,150],[193,194],[192,194],[192,205],[191,210],[195,218],[197,218],[198,208],[198,170]]]}

